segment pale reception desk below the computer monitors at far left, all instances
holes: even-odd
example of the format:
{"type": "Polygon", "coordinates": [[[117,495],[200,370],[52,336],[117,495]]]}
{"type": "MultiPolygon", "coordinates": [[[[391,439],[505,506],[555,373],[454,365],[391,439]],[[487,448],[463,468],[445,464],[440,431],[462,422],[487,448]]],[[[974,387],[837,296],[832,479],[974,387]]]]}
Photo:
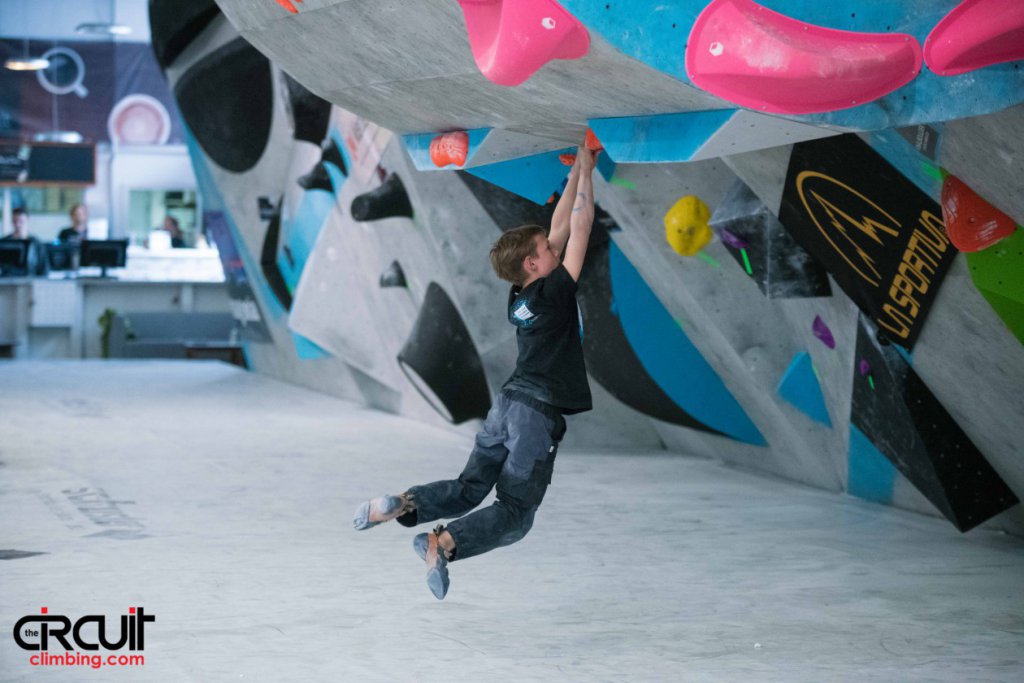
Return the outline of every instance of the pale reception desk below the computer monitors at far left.
{"type": "Polygon", "coordinates": [[[0,356],[101,357],[99,318],[117,312],[229,312],[223,282],[0,279],[0,356]]]}

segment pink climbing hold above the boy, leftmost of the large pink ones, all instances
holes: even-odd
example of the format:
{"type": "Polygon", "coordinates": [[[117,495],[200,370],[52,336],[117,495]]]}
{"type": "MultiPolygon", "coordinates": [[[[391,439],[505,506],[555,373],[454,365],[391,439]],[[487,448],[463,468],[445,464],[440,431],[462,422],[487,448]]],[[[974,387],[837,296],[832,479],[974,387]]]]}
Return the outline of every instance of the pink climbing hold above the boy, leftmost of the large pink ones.
{"type": "Polygon", "coordinates": [[[590,50],[586,27],[554,0],[459,0],[476,66],[498,85],[519,85],[552,59],[590,50]]]}

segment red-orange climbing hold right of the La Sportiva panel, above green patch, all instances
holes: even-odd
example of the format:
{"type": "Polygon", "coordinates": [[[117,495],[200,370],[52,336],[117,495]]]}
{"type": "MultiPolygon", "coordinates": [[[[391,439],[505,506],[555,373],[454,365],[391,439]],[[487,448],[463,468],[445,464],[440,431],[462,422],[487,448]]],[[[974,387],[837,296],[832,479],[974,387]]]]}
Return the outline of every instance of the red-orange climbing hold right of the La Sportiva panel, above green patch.
{"type": "Polygon", "coordinates": [[[982,199],[955,175],[942,181],[942,221],[949,241],[962,252],[991,247],[1017,229],[1013,218],[982,199]]]}

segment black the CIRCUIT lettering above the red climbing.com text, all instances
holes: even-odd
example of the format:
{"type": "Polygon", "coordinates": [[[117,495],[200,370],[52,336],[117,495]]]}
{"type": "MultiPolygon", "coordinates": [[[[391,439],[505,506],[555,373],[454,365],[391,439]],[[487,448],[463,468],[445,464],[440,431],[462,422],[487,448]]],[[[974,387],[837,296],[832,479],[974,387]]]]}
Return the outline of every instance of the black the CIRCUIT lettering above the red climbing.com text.
{"type": "Polygon", "coordinates": [[[24,650],[49,650],[58,643],[65,650],[129,650],[140,651],[145,647],[145,625],[156,622],[155,614],[146,614],[142,607],[129,607],[127,614],[120,614],[120,632],[117,640],[109,638],[106,616],[86,614],[72,623],[62,614],[50,614],[42,607],[38,614],[29,614],[14,624],[14,642],[24,650]],[[95,637],[91,638],[91,625],[95,624],[95,637]],[[86,633],[83,633],[86,632],[86,633]]]}

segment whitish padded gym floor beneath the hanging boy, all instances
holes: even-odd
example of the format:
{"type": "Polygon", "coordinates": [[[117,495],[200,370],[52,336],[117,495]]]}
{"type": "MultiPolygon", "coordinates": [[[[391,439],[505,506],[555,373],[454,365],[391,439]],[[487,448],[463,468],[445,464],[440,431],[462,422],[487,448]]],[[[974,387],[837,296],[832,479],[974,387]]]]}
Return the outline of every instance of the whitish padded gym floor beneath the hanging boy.
{"type": "Polygon", "coordinates": [[[349,520],[466,436],[195,361],[2,364],[0,427],[0,549],[45,553],[0,561],[3,681],[1024,680],[1024,541],[993,531],[563,452],[530,535],[438,602],[413,531],[349,520]],[[145,665],[30,666],[44,605],[143,606],[145,665]]]}

